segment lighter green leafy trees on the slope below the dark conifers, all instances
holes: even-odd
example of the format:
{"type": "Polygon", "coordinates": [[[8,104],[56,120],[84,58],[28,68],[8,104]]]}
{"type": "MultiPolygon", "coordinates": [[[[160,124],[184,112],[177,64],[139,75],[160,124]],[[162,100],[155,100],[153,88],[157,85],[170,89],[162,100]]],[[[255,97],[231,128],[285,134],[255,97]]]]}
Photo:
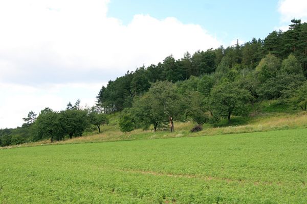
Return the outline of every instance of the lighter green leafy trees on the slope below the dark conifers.
{"type": "Polygon", "coordinates": [[[224,59],[215,72],[171,83],[153,83],[142,96],[135,96],[120,120],[123,132],[135,127],[153,130],[172,120],[192,119],[199,125],[232,115],[248,115],[257,100],[279,99],[306,110],[307,81],[293,54],[280,61],[272,54],[262,58],[255,69],[229,68],[224,59]],[[171,120],[172,119],[172,120],[171,120]]]}

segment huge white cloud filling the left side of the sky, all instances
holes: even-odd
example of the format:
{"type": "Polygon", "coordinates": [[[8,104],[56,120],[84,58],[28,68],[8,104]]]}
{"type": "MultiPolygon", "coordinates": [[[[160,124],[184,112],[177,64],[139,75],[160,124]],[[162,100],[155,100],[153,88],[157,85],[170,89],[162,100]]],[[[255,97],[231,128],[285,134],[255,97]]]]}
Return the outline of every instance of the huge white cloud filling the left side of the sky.
{"type": "Polygon", "coordinates": [[[76,98],[85,101],[88,96],[82,87],[89,83],[95,84],[89,86],[93,90],[86,90],[95,92],[94,101],[104,82],[127,70],[156,64],[170,54],[181,58],[186,51],[222,44],[200,25],[183,24],[173,17],[135,15],[123,25],[120,19],[106,17],[107,4],[103,0],[0,1],[0,84],[5,101],[0,128],[20,125],[30,110],[60,109],[76,98]],[[65,95],[66,89],[75,93],[70,94],[73,99],[65,95]],[[27,105],[14,109],[19,101],[27,105]]]}

